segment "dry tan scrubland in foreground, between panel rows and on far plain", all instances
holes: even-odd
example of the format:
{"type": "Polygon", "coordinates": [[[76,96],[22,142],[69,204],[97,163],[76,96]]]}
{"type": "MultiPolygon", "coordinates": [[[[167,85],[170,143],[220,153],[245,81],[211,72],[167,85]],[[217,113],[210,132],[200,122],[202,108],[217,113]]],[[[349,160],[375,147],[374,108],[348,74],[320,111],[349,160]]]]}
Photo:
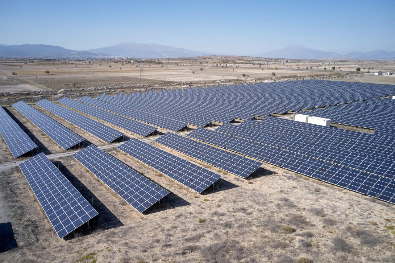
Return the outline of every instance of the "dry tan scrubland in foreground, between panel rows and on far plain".
{"type": "MultiPolygon", "coordinates": [[[[244,61],[239,59],[240,62],[244,61]]],[[[229,68],[222,67],[204,68],[200,71],[199,68],[202,66],[199,64],[181,66],[181,62],[185,61],[174,60],[172,63],[179,65],[172,64],[167,66],[168,68],[162,64],[159,65],[164,66],[163,68],[158,64],[152,64],[150,68],[146,65],[144,83],[153,86],[175,81],[233,81],[239,78],[242,72],[251,77],[265,79],[271,78],[273,71],[257,70],[256,65],[248,64],[240,64],[235,73],[229,68]],[[195,74],[192,74],[191,68],[195,74]]],[[[29,92],[34,89],[57,92],[66,88],[66,83],[69,85],[68,88],[73,83],[79,83],[75,88],[94,87],[95,80],[97,86],[139,84],[139,71],[134,68],[129,67],[126,70],[126,66],[121,66],[121,70],[109,70],[107,65],[99,66],[99,62],[95,61],[89,68],[86,64],[85,68],[81,68],[82,63],[79,62],[77,70],[75,64],[66,64],[67,69],[60,69],[60,62],[56,63],[58,64],[34,62],[27,66],[23,64],[23,68],[0,64],[2,76],[11,77],[8,72],[13,70],[17,72],[13,77],[21,80],[19,84],[14,84],[17,80],[6,81],[6,85],[0,80],[0,88],[5,87],[4,90],[7,92],[12,90],[10,86],[29,89],[29,92]],[[50,66],[53,68],[49,68],[49,75],[42,72],[50,66]],[[35,71],[34,67],[39,69],[35,71]],[[73,72],[67,73],[69,71],[73,72]]],[[[192,60],[188,63],[192,63],[192,60]]],[[[361,62],[347,63],[352,65],[361,62]]],[[[302,62],[298,61],[297,64],[302,65],[302,62]]],[[[281,67],[284,70],[277,70],[276,76],[284,74],[285,78],[289,75],[288,71],[292,71],[292,75],[312,74],[310,71],[294,72],[289,67],[287,71],[286,65],[281,67]]],[[[314,71],[314,74],[322,73],[329,74],[320,70],[314,71]]],[[[383,81],[395,84],[391,76],[360,79],[364,82],[383,81]]],[[[96,146],[105,145],[85,131],[36,105],[33,106],[82,137],[88,138],[89,143],[96,146]]],[[[56,145],[12,107],[6,109],[35,140],[40,151],[46,154],[71,151],[65,151],[56,145]]],[[[135,137],[131,133],[125,134],[135,137]]],[[[18,246],[0,253],[0,262],[395,261],[393,205],[266,163],[256,175],[245,180],[164,146],[152,144],[219,173],[222,179],[215,183],[214,189],[209,188],[203,195],[199,195],[115,147],[106,148],[105,151],[171,192],[162,199],[160,205],[157,203],[144,214],[140,214],[73,157],[58,158],[53,160],[55,165],[100,213],[90,221],[90,229],[87,229],[85,224],[66,239],[58,239],[20,169],[8,169],[0,173],[0,223],[12,223],[18,246]]],[[[18,160],[28,158],[25,156],[18,160]]],[[[15,160],[3,139],[0,139],[0,160],[1,163],[15,160]]]]}

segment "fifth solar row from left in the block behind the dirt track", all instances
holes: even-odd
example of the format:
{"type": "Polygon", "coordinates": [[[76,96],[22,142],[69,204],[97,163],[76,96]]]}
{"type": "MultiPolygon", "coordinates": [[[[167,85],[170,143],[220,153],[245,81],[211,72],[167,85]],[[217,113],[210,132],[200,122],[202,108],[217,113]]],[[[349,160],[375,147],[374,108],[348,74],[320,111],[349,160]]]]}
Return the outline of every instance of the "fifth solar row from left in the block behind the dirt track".
{"type": "Polygon", "coordinates": [[[89,105],[99,107],[100,109],[105,109],[107,111],[111,111],[122,116],[126,116],[135,120],[140,120],[142,122],[152,124],[169,131],[181,131],[186,129],[186,126],[188,125],[184,122],[179,122],[177,120],[171,120],[169,118],[164,118],[143,111],[137,111],[129,107],[123,107],[117,104],[105,102],[102,100],[96,100],[94,98],[89,98],[86,96],[79,98],[78,100],[89,105]]]}

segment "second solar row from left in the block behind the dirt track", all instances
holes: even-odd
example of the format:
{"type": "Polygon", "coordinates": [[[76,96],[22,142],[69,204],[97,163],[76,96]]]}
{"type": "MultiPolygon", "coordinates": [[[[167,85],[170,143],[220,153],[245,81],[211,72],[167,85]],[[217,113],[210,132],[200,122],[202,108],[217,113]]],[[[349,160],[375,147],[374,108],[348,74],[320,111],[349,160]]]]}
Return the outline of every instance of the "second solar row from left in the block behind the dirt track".
{"type": "Polygon", "coordinates": [[[23,101],[13,104],[12,107],[19,111],[23,116],[30,120],[41,131],[43,131],[65,150],[81,143],[82,141],[85,141],[85,139],[79,136],[77,133],[70,131],[62,124],[49,118],[41,111],[34,109],[32,106],[27,105],[23,101]]]}

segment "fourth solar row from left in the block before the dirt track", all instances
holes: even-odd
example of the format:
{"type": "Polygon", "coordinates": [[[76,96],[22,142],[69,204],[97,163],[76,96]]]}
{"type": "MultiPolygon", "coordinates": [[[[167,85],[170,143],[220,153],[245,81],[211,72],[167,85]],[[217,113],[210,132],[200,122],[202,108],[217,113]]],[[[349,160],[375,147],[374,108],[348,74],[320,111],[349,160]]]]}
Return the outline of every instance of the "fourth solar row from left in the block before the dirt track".
{"type": "Polygon", "coordinates": [[[194,141],[175,133],[166,133],[155,141],[243,178],[254,173],[254,171],[262,165],[260,162],[194,141]]]}

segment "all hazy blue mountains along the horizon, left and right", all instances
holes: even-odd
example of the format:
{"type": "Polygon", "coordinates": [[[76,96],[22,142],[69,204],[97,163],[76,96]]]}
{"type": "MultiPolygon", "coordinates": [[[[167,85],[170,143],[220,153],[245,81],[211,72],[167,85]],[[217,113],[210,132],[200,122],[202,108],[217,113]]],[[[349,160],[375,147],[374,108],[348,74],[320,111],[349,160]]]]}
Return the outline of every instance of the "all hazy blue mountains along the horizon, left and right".
{"type": "MultiPolygon", "coordinates": [[[[41,44],[4,45],[0,44],[0,57],[24,57],[24,58],[179,58],[203,56],[209,54],[203,51],[192,51],[177,47],[122,42],[110,47],[76,51],[63,47],[41,44]]],[[[211,53],[212,55],[216,55],[211,53]]],[[[309,49],[302,46],[291,45],[276,51],[254,55],[263,58],[286,58],[286,59],[322,59],[322,58],[349,58],[359,60],[395,60],[395,51],[373,50],[370,52],[326,52],[317,49],[309,49]]]]}

